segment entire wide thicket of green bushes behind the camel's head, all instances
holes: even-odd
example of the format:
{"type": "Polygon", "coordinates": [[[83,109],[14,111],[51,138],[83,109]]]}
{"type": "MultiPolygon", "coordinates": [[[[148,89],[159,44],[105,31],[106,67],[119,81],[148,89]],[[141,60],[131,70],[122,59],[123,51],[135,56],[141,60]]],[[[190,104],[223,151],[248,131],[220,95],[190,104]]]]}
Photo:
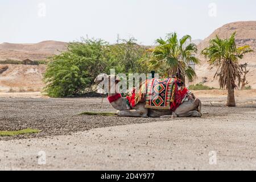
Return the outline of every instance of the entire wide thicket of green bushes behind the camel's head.
{"type": "Polygon", "coordinates": [[[134,39],[109,45],[103,40],[85,40],[68,44],[68,51],[52,57],[44,82],[50,97],[71,97],[90,91],[100,73],[147,73],[146,47],[134,39]]]}

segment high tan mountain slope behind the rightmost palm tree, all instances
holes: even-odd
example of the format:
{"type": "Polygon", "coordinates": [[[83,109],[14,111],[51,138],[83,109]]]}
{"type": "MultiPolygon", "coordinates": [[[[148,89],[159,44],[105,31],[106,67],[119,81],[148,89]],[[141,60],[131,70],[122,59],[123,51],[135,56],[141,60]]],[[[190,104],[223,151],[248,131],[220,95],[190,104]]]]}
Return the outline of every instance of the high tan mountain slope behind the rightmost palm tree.
{"type": "Polygon", "coordinates": [[[250,65],[250,72],[247,75],[247,80],[249,81],[249,85],[256,89],[256,68],[254,68],[254,65],[256,65],[256,21],[225,24],[215,30],[210,36],[208,36],[208,38],[199,43],[197,46],[199,48],[199,54],[197,56],[201,60],[201,65],[196,67],[196,73],[198,76],[196,82],[207,81],[205,82],[205,85],[218,88],[218,81],[213,80],[216,69],[209,68],[207,60],[203,56],[200,56],[200,52],[209,45],[209,40],[214,38],[216,35],[224,39],[232,35],[233,32],[237,33],[236,43],[238,47],[249,45],[254,50],[254,52],[248,53],[245,58],[241,60],[241,63],[248,63],[250,65]]]}

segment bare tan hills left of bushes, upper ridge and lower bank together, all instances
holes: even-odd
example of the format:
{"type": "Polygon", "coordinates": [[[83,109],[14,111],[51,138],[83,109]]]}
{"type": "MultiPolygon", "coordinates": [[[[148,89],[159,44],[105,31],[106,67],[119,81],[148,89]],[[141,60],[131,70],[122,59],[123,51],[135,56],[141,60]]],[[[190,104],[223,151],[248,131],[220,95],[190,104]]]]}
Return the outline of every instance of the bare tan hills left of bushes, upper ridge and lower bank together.
{"type": "MultiPolygon", "coordinates": [[[[67,43],[44,41],[36,44],[0,44],[1,60],[46,60],[66,49],[67,43]]],[[[0,92],[24,92],[42,90],[46,65],[1,65],[0,92]]]]}

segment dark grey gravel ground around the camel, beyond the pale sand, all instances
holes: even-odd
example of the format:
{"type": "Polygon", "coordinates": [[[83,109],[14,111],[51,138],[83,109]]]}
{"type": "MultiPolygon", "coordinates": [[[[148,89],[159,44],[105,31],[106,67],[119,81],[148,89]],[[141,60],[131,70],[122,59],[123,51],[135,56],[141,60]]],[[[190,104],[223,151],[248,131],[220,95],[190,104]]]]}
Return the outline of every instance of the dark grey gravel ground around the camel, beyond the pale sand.
{"type": "MultiPolygon", "coordinates": [[[[100,127],[167,120],[79,115],[83,111],[115,112],[106,99],[100,108],[101,101],[101,98],[0,98],[0,131],[27,128],[42,130],[39,134],[0,137],[0,140],[69,135],[100,127]]],[[[204,98],[203,102],[205,101],[209,100],[204,98]]],[[[205,102],[204,116],[200,119],[255,110],[254,107],[221,107],[218,105],[224,104],[219,100],[214,102],[214,105],[216,106],[205,102]]],[[[177,118],[177,120],[179,119],[189,118],[177,118]]]]}

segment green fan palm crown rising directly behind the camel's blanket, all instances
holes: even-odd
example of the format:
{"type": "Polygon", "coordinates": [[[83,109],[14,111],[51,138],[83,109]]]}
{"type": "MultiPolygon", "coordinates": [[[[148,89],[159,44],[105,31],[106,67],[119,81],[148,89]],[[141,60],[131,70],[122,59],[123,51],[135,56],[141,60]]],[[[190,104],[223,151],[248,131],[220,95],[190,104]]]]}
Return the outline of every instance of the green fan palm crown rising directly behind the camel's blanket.
{"type": "Polygon", "coordinates": [[[199,59],[195,57],[196,44],[190,42],[191,36],[185,35],[178,40],[176,32],[167,34],[166,40],[157,39],[158,46],[152,51],[150,60],[152,67],[162,69],[163,76],[170,77],[178,74],[183,82],[185,77],[189,82],[195,80],[196,73],[189,63],[199,64],[199,59]]]}

